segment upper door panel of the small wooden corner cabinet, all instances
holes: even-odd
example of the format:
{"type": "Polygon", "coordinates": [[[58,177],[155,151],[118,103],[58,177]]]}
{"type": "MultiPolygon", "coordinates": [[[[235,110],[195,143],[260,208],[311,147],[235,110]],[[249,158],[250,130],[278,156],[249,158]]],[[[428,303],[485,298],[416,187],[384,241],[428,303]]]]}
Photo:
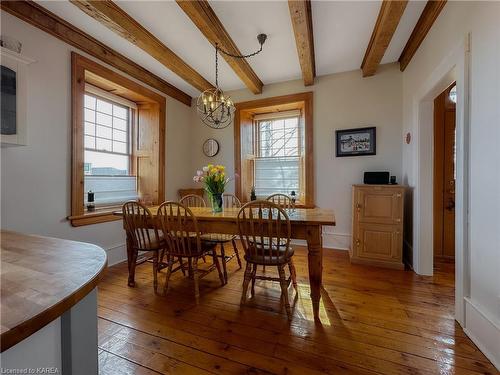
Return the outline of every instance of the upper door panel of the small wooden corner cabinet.
{"type": "Polygon", "coordinates": [[[403,194],[390,189],[359,189],[355,204],[360,223],[399,224],[403,194]]]}

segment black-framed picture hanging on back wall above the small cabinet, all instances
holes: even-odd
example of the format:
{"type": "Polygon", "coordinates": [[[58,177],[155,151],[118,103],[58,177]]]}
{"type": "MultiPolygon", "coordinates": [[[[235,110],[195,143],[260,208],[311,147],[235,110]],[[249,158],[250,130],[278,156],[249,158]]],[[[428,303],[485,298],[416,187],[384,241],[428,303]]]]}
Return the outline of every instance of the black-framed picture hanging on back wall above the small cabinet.
{"type": "Polygon", "coordinates": [[[335,131],[336,156],[376,155],[376,128],[342,129],[335,131]]]}

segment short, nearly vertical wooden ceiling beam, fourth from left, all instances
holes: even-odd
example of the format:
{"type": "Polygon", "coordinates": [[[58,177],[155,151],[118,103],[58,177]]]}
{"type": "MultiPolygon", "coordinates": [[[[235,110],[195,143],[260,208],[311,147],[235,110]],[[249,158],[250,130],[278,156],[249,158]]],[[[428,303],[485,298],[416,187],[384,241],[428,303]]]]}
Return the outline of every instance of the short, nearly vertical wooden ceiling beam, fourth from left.
{"type": "Polygon", "coordinates": [[[292,19],[297,53],[304,85],[314,84],[316,63],[314,59],[314,38],[312,27],[312,11],[310,0],[289,0],[290,17],[292,19]]]}

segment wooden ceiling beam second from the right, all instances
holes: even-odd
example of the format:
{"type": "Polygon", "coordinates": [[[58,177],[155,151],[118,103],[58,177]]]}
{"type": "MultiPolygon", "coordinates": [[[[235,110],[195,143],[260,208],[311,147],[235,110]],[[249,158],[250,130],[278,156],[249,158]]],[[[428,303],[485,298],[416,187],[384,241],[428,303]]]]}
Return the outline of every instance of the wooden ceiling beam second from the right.
{"type": "Polygon", "coordinates": [[[382,61],[392,36],[396,32],[396,28],[403,16],[407,3],[407,0],[384,0],[382,2],[377,22],[375,23],[370,38],[370,43],[368,43],[365,57],[361,64],[363,77],[372,76],[377,72],[380,61],[382,61]]]}

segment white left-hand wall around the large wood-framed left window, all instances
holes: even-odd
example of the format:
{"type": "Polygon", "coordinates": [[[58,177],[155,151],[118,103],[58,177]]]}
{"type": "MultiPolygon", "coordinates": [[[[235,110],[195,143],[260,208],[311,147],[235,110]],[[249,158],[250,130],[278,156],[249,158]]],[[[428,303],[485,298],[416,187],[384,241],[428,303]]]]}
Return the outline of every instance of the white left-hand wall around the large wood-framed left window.
{"type": "MultiPolygon", "coordinates": [[[[20,40],[23,55],[36,60],[27,73],[28,146],[1,150],[1,227],[92,242],[108,250],[110,263],[123,259],[125,236],[119,221],[73,228],[66,220],[71,184],[70,53],[79,51],[5,12],[1,31],[20,40]]],[[[166,112],[166,195],[175,199],[177,189],[191,183],[191,108],[167,98],[166,112]]]]}

